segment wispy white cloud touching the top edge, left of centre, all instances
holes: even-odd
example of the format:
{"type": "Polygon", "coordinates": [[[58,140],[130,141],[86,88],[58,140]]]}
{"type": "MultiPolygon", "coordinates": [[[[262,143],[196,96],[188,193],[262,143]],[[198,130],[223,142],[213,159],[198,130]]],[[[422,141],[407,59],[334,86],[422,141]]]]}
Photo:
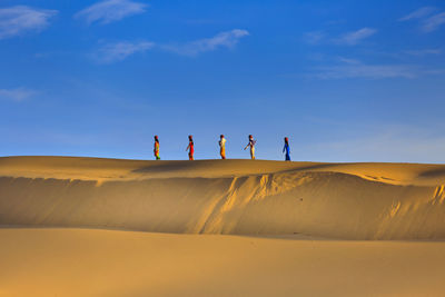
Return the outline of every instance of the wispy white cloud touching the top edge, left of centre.
{"type": "Polygon", "coordinates": [[[131,0],[105,0],[79,11],[75,18],[83,19],[88,24],[93,22],[106,24],[142,13],[147,8],[148,4],[131,0]]]}

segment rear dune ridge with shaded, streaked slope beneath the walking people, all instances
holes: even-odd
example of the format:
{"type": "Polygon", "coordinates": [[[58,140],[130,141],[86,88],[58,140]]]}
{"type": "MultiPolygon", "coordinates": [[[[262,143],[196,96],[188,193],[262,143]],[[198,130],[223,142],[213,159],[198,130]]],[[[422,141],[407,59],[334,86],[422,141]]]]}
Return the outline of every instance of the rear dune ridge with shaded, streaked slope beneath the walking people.
{"type": "Polygon", "coordinates": [[[435,165],[1,158],[0,225],[445,239],[442,170],[435,165]]]}

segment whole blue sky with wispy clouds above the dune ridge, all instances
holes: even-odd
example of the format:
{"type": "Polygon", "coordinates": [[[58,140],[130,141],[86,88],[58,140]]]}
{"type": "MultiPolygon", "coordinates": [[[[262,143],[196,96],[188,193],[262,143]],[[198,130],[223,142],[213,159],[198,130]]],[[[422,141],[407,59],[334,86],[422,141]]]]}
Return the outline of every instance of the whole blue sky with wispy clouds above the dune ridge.
{"type": "Polygon", "coordinates": [[[443,1],[1,0],[0,155],[445,162],[444,40],[443,1]]]}

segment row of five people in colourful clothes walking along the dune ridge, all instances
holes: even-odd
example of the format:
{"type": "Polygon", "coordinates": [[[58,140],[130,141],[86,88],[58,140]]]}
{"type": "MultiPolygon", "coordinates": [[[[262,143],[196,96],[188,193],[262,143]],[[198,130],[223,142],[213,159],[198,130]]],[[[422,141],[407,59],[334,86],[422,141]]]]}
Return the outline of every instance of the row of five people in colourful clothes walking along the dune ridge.
{"type": "MultiPolygon", "coordinates": [[[[224,135],[220,135],[219,137],[219,155],[221,156],[221,159],[226,159],[226,138],[224,135]]],[[[250,158],[255,160],[255,145],[256,140],[251,135],[249,135],[249,142],[247,142],[247,146],[244,148],[246,150],[247,148],[250,148],[250,158]]],[[[195,143],[194,143],[194,137],[190,135],[188,136],[188,146],[186,148],[186,151],[188,151],[188,159],[189,160],[195,160],[195,143]]],[[[155,158],[157,160],[160,160],[159,157],[159,137],[155,136],[155,158]]],[[[290,161],[290,147],[289,147],[289,139],[285,137],[285,146],[283,148],[283,152],[286,154],[286,161],[290,161]]]]}

